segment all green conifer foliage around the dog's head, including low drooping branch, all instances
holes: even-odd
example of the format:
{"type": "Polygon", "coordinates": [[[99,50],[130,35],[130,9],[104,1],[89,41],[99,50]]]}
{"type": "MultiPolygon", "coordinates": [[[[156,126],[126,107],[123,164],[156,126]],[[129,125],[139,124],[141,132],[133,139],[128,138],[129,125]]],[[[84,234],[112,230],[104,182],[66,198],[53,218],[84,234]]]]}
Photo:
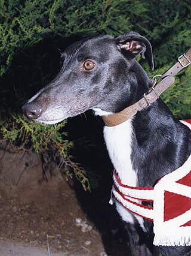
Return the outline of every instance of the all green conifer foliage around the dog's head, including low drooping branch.
{"type": "MultiPolygon", "coordinates": [[[[85,170],[70,156],[66,122],[46,126],[20,116],[20,106],[50,82],[60,53],[84,34],[119,35],[134,30],[153,46],[155,71],[162,74],[191,46],[190,1],[178,0],[0,0],[0,136],[24,150],[56,159],[58,168],[90,188],[85,170]],[[50,150],[52,153],[50,153],[50,150]],[[55,155],[56,152],[56,155],[55,155]]],[[[190,67],[163,95],[177,118],[189,118],[190,67]]],[[[44,159],[45,161],[45,159],[44,159]]]]}

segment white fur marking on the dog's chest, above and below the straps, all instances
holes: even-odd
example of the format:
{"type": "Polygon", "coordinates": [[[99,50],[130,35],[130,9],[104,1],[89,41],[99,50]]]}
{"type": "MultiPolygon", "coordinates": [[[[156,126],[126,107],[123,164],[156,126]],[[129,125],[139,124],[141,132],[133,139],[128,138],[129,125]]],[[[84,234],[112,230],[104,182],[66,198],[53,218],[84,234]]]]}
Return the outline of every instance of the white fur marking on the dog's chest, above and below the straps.
{"type": "MultiPolygon", "coordinates": [[[[137,174],[131,164],[131,141],[133,135],[132,120],[116,125],[115,127],[104,127],[104,139],[107,150],[114,168],[118,172],[121,182],[130,186],[137,186],[137,174]]],[[[116,203],[116,208],[121,218],[134,223],[134,215],[126,210],[121,204],[116,203]]],[[[143,218],[135,215],[144,230],[143,218]]]]}

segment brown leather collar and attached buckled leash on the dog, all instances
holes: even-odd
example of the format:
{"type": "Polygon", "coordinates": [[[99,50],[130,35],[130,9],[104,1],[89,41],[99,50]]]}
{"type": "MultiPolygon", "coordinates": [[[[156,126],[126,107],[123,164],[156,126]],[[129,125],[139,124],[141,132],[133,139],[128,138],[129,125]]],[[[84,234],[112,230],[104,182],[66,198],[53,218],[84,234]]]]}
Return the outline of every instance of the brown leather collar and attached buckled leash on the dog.
{"type": "Polygon", "coordinates": [[[184,53],[180,57],[178,57],[178,61],[176,64],[174,64],[167,72],[165,72],[162,75],[157,75],[161,77],[161,82],[156,83],[155,77],[153,77],[153,86],[149,89],[149,92],[147,94],[144,94],[143,97],[137,101],[137,103],[131,105],[130,107],[127,107],[126,109],[122,110],[121,112],[103,116],[102,119],[104,121],[104,124],[107,127],[113,127],[115,125],[122,124],[123,122],[127,121],[134,115],[136,115],[137,112],[141,111],[147,106],[150,106],[152,103],[154,103],[159,96],[167,90],[173,83],[174,83],[174,76],[183,68],[186,68],[191,63],[191,48],[188,50],[188,52],[184,53]]]}

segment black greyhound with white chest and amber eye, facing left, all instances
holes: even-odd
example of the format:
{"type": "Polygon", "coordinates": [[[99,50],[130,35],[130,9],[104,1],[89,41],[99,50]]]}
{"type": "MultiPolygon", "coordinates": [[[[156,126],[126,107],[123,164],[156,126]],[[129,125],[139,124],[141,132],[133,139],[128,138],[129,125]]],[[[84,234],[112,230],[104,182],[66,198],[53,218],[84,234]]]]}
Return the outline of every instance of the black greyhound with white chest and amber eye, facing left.
{"type": "MultiPolygon", "coordinates": [[[[62,54],[63,66],[56,79],[41,89],[23,111],[30,119],[56,124],[88,109],[106,116],[136,103],[152,82],[136,61],[138,54],[149,60],[153,70],[152,47],[135,32],[119,37],[96,35],[69,46],[62,54]]],[[[158,98],[115,127],[104,127],[104,138],[122,183],[153,186],[189,158],[190,129],[173,116],[158,98]]],[[[130,234],[131,255],[152,255],[153,224],[116,208],[130,234]]],[[[190,246],[158,246],[167,256],[190,255],[190,246]]]]}

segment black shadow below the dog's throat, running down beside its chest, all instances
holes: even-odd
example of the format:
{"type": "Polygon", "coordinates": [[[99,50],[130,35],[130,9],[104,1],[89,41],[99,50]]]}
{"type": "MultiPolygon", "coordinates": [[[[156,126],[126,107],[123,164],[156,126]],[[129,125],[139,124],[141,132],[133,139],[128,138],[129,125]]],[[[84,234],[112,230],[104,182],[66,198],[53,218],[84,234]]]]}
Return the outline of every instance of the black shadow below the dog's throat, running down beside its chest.
{"type": "Polygon", "coordinates": [[[103,139],[103,121],[98,117],[95,118],[92,112],[86,112],[86,116],[70,119],[68,128],[69,134],[74,139],[78,140],[78,137],[85,136],[84,140],[93,144],[89,150],[83,150],[83,147],[79,149],[77,145],[78,150],[73,152],[73,155],[87,166],[87,170],[90,168],[96,176],[95,179],[98,179],[97,188],[92,189],[91,192],[85,192],[79,183],[75,183],[78,202],[87,217],[96,225],[107,255],[128,255],[127,231],[115,206],[109,204],[113,166],[103,139]]]}

